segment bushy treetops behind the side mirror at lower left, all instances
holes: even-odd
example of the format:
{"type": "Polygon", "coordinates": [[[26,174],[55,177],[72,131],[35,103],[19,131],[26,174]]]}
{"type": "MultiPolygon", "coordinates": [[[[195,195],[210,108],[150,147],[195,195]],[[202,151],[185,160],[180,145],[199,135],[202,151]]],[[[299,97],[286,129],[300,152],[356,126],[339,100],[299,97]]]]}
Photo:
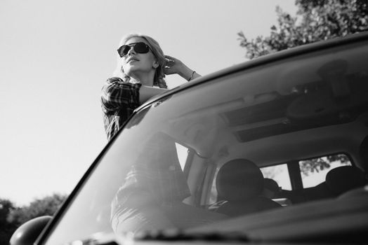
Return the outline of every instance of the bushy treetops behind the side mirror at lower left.
{"type": "Polygon", "coordinates": [[[28,206],[15,208],[8,215],[8,222],[19,226],[32,218],[46,215],[53,216],[55,211],[63,204],[66,197],[66,195],[53,194],[42,199],[34,200],[28,206]]]}

